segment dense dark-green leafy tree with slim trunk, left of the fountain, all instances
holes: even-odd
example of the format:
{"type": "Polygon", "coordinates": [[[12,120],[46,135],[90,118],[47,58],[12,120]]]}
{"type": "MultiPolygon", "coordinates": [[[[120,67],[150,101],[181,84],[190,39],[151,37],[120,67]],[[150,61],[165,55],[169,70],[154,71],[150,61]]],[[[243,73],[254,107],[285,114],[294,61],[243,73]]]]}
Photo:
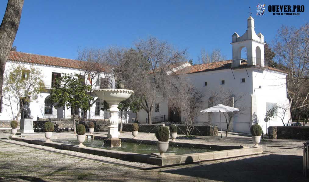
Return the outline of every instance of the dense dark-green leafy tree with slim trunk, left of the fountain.
{"type": "Polygon", "coordinates": [[[56,85],[60,86],[50,92],[50,100],[56,103],[57,108],[66,106],[73,109],[73,126],[76,133],[75,109],[90,109],[89,101],[93,101],[93,97],[87,94],[87,91],[91,89],[91,85],[84,85],[78,79],[78,75],[72,73],[57,78],[56,85]]]}

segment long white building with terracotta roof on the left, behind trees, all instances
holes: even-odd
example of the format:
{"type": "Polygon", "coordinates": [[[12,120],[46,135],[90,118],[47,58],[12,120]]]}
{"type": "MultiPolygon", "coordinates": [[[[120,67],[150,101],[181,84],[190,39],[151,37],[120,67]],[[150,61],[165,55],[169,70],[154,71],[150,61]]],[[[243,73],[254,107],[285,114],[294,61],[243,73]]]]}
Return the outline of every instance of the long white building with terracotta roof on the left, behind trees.
{"type": "MultiPolygon", "coordinates": [[[[11,51],[8,57],[8,61],[6,63],[5,71],[9,72],[12,65],[23,64],[26,68],[30,68],[31,66],[39,68],[44,78],[44,87],[46,92],[41,93],[36,101],[32,101],[30,105],[31,115],[34,117],[34,120],[37,118],[72,118],[72,112],[69,108],[55,108],[53,103],[49,100],[50,90],[53,89],[53,83],[57,77],[60,77],[63,73],[73,73],[84,75],[85,84],[90,84],[90,81],[87,80],[87,74],[85,75],[85,70],[82,69],[81,61],[72,60],[72,59],[64,59],[59,57],[50,57],[50,56],[42,56],[36,54],[22,53],[22,52],[14,52],[11,51]]],[[[109,73],[108,73],[109,74],[109,73]]],[[[92,84],[94,87],[100,88],[101,81],[104,81],[105,75],[102,73],[95,79],[92,80],[96,82],[96,84],[92,84]]],[[[3,93],[5,94],[5,93],[3,93]]],[[[95,95],[94,95],[95,96],[95,95]]],[[[11,106],[9,106],[9,101],[6,97],[2,97],[3,100],[1,102],[1,113],[0,113],[0,121],[11,121],[13,119],[11,106]]],[[[16,115],[20,105],[19,100],[12,100],[12,110],[14,115],[16,115]]],[[[95,97],[97,99],[97,97],[95,97]]],[[[87,118],[90,119],[104,119],[109,118],[108,112],[104,112],[100,110],[100,101],[98,100],[95,104],[92,105],[90,112],[87,113],[87,118]]],[[[83,111],[78,109],[78,116],[81,117],[83,111]]],[[[19,117],[20,119],[20,117],[19,117]]]]}

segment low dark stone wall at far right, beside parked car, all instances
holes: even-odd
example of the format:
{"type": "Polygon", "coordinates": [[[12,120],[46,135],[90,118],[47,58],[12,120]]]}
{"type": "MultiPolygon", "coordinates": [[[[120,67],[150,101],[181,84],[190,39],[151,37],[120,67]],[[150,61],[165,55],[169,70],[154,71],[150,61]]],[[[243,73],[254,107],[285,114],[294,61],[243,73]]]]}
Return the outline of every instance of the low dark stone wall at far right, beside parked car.
{"type": "Polygon", "coordinates": [[[309,126],[270,126],[269,138],[309,140],[309,126]]]}

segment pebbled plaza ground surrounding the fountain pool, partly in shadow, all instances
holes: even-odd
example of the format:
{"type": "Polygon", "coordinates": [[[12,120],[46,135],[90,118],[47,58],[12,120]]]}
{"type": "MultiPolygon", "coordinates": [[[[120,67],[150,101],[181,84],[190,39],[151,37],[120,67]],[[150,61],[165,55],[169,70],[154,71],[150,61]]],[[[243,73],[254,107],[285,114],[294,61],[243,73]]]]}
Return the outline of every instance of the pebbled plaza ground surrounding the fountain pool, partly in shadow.
{"type": "MultiPolygon", "coordinates": [[[[265,139],[260,143],[264,151],[268,151],[265,154],[140,170],[132,166],[151,165],[32,145],[9,140],[10,135],[0,132],[0,181],[309,181],[302,173],[303,140],[265,139]]],[[[106,133],[95,135],[106,136],[106,133]]],[[[54,136],[76,137],[71,132],[54,133],[54,136]]],[[[44,138],[44,133],[32,137],[44,138]]],[[[132,135],[125,132],[121,137],[132,138],[132,135]]],[[[179,137],[177,141],[252,146],[251,137],[245,134],[223,136],[224,140],[219,138],[179,137]]],[[[155,140],[155,135],[139,133],[138,139],[155,140]]]]}

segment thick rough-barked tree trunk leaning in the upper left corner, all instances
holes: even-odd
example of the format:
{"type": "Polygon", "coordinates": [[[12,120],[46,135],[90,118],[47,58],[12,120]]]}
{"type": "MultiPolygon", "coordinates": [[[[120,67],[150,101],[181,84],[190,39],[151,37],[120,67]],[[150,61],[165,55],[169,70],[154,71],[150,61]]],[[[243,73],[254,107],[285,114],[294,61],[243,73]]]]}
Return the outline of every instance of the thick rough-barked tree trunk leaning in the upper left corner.
{"type": "Polygon", "coordinates": [[[8,0],[0,26],[0,96],[5,64],[19,27],[23,2],[23,0],[8,0]]]}

